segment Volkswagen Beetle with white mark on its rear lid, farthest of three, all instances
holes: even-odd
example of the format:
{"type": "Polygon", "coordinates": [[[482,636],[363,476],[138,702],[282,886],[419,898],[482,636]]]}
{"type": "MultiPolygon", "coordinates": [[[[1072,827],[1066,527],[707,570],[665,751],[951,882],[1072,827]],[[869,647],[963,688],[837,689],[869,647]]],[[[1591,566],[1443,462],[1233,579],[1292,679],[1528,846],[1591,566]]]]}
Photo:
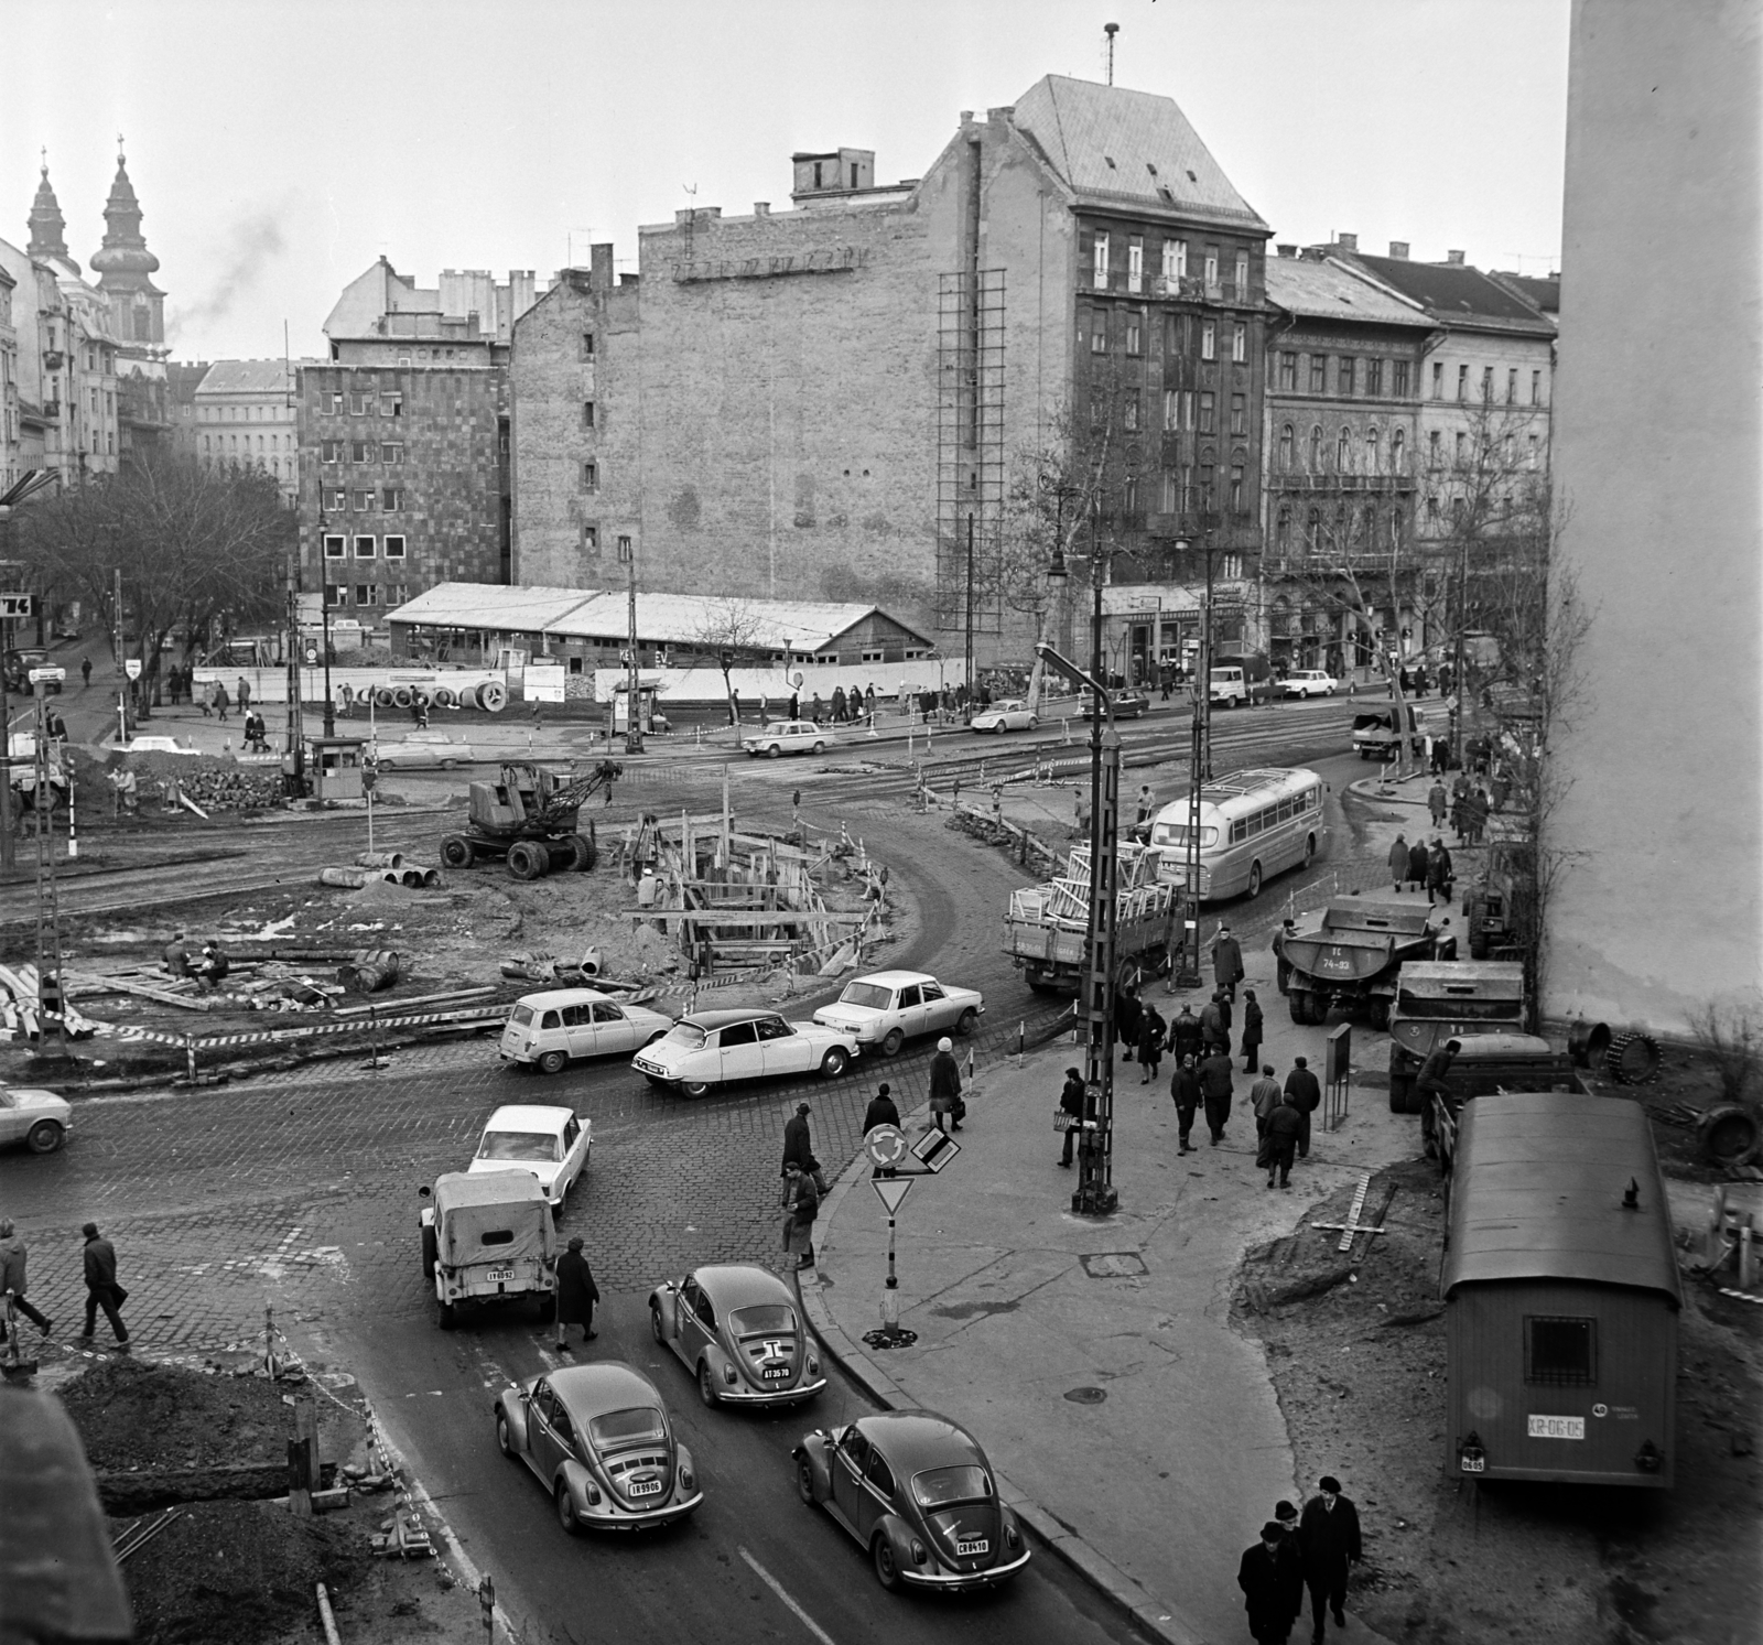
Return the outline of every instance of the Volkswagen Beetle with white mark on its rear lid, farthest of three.
{"type": "Polygon", "coordinates": [[[827,1386],[795,1294],[769,1268],[718,1262],[656,1285],[649,1329],[710,1407],[795,1405],[827,1386]]]}

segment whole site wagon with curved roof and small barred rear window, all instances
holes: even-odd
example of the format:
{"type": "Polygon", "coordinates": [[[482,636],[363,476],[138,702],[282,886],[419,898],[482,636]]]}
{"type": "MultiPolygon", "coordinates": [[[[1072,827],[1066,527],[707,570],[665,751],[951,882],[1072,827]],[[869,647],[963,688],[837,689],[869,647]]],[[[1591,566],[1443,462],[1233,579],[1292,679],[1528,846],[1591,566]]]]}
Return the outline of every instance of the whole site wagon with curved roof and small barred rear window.
{"type": "Polygon", "coordinates": [[[1447,1472],[1668,1488],[1684,1294],[1645,1109],[1465,1104],[1447,1241],[1447,1472]]]}

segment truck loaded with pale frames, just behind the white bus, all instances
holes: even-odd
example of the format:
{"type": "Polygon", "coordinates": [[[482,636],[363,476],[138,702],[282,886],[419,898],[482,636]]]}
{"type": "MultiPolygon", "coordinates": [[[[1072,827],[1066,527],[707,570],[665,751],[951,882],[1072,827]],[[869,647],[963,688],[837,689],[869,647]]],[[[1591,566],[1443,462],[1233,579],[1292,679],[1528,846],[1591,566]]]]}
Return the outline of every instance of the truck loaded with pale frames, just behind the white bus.
{"type": "MultiPolygon", "coordinates": [[[[1118,846],[1114,912],[1116,986],[1141,971],[1169,968],[1186,894],[1158,878],[1162,853],[1141,845],[1118,846]]],[[[1090,846],[1077,846],[1067,871],[1045,885],[1010,892],[1005,952],[1038,994],[1075,994],[1084,975],[1090,931],[1090,846]]]]}

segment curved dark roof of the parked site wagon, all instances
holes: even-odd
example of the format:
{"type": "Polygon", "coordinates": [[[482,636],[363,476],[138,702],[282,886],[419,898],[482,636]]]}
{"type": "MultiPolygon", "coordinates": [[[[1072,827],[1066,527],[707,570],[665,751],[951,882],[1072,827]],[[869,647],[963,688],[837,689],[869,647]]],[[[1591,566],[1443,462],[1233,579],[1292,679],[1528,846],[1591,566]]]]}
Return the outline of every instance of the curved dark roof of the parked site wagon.
{"type": "Polygon", "coordinates": [[[1440,1294],[1497,1280],[1684,1292],[1650,1121],[1638,1102],[1567,1091],[1463,1104],[1440,1294]],[[1629,1180],[1641,1210],[1622,1208],[1629,1180]]]}

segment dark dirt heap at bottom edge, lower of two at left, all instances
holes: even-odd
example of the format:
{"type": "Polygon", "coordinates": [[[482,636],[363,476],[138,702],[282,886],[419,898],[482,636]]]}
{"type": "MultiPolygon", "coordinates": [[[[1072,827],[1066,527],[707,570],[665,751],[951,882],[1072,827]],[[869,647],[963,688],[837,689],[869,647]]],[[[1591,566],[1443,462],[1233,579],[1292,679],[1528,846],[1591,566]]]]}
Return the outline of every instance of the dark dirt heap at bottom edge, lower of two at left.
{"type": "Polygon", "coordinates": [[[296,1520],[261,1502],[196,1502],[122,1573],[136,1645],[263,1645],[316,1624],[317,1583],[347,1592],[368,1580],[372,1562],[356,1523],[296,1520]]]}

